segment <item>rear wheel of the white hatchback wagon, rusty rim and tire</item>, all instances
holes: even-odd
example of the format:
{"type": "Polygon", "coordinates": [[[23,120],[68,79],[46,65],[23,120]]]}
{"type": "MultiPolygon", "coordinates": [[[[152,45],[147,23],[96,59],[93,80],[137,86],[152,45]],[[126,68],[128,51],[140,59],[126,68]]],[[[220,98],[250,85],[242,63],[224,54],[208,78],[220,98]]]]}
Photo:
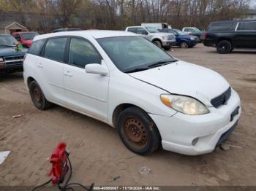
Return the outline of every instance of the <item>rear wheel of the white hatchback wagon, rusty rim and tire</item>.
{"type": "Polygon", "coordinates": [[[37,109],[45,110],[52,106],[52,104],[45,98],[41,87],[37,84],[36,81],[32,81],[29,84],[29,93],[31,96],[31,100],[33,101],[34,106],[36,106],[37,109]]]}

